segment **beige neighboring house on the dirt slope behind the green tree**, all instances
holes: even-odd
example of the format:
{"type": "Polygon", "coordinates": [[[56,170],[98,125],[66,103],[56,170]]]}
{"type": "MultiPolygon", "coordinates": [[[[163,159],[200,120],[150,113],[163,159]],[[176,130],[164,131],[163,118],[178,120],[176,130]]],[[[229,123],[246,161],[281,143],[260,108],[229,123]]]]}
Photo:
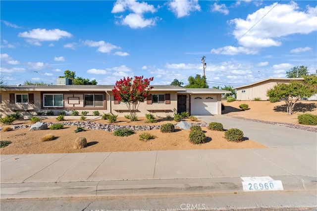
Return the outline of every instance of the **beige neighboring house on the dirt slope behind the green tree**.
{"type": "MultiPolygon", "coordinates": [[[[303,78],[268,78],[260,82],[239,86],[234,89],[237,90],[237,100],[268,100],[266,92],[268,89],[273,88],[278,83],[289,84],[292,81],[303,81],[303,78]]],[[[317,100],[317,95],[310,97],[308,100],[317,100]]]]}

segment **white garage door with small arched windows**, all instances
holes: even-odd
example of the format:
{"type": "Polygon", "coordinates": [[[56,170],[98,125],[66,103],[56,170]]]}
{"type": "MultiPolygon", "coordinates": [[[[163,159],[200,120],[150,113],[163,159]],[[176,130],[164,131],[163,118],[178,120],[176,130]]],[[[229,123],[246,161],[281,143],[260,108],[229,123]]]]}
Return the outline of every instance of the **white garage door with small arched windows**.
{"type": "Polygon", "coordinates": [[[194,95],[192,96],[191,114],[210,115],[217,114],[216,96],[194,95]]]}

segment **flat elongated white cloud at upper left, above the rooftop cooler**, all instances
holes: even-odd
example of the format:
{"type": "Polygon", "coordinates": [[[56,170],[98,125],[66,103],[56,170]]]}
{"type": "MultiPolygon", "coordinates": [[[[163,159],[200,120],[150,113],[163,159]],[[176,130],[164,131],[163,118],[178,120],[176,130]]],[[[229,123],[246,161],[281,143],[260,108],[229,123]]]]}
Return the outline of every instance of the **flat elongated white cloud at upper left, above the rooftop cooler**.
{"type": "Polygon", "coordinates": [[[28,32],[20,32],[18,37],[27,38],[26,42],[34,45],[41,45],[43,41],[58,41],[62,38],[70,38],[72,35],[59,29],[33,29],[28,32]]]}

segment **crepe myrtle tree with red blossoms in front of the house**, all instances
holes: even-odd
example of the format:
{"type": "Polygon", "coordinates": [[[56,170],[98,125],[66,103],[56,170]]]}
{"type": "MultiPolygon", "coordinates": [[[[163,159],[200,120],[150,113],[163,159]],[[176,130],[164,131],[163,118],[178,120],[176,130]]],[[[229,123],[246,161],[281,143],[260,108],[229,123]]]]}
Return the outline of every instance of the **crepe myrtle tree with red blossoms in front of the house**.
{"type": "Polygon", "coordinates": [[[115,83],[112,93],[116,100],[124,102],[130,112],[131,121],[136,120],[136,112],[141,102],[147,98],[154,77],[143,79],[143,76],[123,78],[115,83]]]}

